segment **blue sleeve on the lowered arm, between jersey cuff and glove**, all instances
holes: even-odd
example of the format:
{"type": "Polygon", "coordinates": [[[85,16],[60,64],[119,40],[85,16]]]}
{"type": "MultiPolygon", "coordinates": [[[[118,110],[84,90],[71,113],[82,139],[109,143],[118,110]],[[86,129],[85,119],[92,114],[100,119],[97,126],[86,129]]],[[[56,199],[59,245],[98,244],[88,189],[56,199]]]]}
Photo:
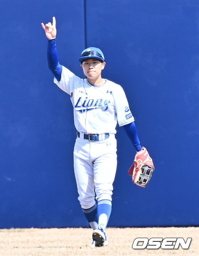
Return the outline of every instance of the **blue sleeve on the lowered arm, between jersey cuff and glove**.
{"type": "Polygon", "coordinates": [[[135,122],[128,123],[127,125],[124,125],[124,130],[126,131],[129,139],[133,143],[134,147],[136,148],[136,151],[142,150],[142,147],[140,145],[140,141],[137,135],[137,129],[135,122]]]}

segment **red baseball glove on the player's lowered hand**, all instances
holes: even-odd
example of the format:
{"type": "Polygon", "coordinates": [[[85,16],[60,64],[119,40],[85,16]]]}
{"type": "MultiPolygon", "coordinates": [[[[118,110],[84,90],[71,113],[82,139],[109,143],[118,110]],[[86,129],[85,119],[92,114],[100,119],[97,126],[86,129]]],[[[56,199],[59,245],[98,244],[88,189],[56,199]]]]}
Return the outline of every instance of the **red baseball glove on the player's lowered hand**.
{"type": "Polygon", "coordinates": [[[128,174],[132,175],[133,183],[140,187],[146,187],[154,171],[154,163],[149,157],[149,153],[145,147],[136,153],[134,163],[128,170],[128,174]]]}

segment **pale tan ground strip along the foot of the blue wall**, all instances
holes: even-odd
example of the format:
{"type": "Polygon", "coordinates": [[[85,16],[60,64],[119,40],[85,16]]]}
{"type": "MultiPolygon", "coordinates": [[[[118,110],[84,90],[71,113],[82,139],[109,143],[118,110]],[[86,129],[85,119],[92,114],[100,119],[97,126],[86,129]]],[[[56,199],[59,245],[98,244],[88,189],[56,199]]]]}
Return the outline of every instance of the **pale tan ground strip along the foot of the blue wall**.
{"type": "Polygon", "coordinates": [[[107,228],[109,245],[90,248],[92,230],[66,229],[1,229],[0,256],[66,256],[66,255],[199,255],[199,227],[107,228]],[[190,247],[178,249],[135,250],[135,238],[192,238],[190,247]]]}

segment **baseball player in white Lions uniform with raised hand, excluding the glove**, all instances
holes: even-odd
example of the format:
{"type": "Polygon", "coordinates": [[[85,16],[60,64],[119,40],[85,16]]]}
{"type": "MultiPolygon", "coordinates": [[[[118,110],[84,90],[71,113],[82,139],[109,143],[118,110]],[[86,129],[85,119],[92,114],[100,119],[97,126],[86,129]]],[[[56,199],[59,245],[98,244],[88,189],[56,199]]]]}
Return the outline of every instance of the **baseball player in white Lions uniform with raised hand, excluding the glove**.
{"type": "Polygon", "coordinates": [[[53,24],[41,24],[48,38],[48,66],[54,83],[71,96],[74,107],[74,172],[78,200],[93,229],[91,247],[105,246],[117,166],[115,128],[117,123],[124,126],[136,151],[141,151],[134,117],[122,87],[101,76],[106,65],[103,52],[96,47],[81,52],[86,78],[79,78],[59,63],[55,17],[53,24]]]}

